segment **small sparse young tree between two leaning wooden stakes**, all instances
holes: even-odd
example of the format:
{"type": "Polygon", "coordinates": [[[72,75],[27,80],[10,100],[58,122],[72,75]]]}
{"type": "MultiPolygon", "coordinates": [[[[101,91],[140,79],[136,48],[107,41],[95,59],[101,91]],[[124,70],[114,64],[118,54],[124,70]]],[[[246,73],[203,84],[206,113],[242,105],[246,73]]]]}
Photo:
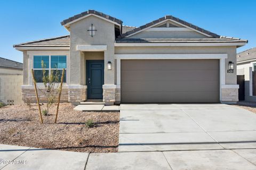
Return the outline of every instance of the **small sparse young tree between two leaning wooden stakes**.
{"type": "Polygon", "coordinates": [[[46,117],[47,123],[49,123],[48,115],[49,110],[53,103],[57,102],[57,96],[60,92],[60,72],[57,68],[51,69],[51,72],[47,74],[46,64],[42,61],[42,69],[43,69],[43,84],[44,88],[40,91],[46,97],[46,117]]]}

